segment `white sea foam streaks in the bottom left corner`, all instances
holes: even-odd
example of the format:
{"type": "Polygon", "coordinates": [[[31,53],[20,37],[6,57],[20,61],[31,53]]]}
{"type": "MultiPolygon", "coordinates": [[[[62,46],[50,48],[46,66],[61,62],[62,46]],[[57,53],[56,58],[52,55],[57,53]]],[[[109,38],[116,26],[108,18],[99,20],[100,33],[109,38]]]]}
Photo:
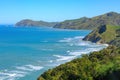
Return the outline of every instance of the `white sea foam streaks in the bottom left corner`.
{"type": "Polygon", "coordinates": [[[43,67],[35,66],[35,65],[24,65],[17,66],[14,70],[3,70],[0,72],[0,80],[16,80],[20,77],[24,77],[25,75],[31,73],[32,71],[41,70],[43,67]]]}

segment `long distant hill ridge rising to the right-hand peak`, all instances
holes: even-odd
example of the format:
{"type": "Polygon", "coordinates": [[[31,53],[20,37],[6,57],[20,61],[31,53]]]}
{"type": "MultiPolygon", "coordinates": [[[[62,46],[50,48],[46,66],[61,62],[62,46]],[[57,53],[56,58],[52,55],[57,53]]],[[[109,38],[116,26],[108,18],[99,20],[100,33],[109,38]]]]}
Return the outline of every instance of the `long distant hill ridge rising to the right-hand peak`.
{"type": "Polygon", "coordinates": [[[54,28],[63,29],[95,29],[102,25],[120,25],[120,14],[115,12],[109,12],[93,18],[83,17],[80,19],[66,20],[58,23],[54,28]]]}

